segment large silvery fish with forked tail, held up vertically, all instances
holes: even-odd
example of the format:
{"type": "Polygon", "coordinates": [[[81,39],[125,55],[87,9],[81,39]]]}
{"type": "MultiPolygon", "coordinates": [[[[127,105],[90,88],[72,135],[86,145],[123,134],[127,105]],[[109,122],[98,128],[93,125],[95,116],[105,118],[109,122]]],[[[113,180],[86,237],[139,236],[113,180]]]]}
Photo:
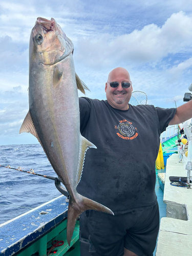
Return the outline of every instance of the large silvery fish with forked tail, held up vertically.
{"type": "Polygon", "coordinates": [[[19,133],[33,134],[70,195],[67,240],[70,244],[75,222],[85,210],[113,212],[79,195],[84,156],[95,147],[80,134],[80,117],[73,43],[56,21],[38,17],[29,46],[29,112],[19,133]]]}

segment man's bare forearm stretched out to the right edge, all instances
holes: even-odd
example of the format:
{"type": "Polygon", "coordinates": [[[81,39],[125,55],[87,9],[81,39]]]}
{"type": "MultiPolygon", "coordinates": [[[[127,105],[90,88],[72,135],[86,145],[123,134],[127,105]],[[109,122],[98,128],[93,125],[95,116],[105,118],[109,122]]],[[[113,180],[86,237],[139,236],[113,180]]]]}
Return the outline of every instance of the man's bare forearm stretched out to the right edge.
{"type": "Polygon", "coordinates": [[[192,118],[192,100],[181,106],[178,106],[174,118],[169,122],[168,125],[179,124],[190,118],[192,118]]]}

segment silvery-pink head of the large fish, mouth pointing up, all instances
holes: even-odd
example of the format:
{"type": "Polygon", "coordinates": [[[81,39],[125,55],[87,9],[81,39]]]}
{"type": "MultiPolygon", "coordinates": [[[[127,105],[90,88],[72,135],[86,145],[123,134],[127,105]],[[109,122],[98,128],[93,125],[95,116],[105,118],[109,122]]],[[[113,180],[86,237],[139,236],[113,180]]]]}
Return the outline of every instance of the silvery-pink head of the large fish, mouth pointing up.
{"type": "Polygon", "coordinates": [[[73,42],[54,18],[38,17],[31,31],[30,58],[44,65],[54,65],[73,53],[73,42]]]}

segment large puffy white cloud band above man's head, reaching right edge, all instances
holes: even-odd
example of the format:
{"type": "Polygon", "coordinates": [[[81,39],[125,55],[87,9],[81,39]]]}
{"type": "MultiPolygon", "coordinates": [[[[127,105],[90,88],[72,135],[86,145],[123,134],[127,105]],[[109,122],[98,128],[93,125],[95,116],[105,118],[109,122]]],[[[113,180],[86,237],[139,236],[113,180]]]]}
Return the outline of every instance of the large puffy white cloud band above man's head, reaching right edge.
{"type": "Polygon", "coordinates": [[[76,58],[78,62],[100,69],[118,62],[138,65],[186,51],[191,47],[191,40],[192,16],[179,12],[170,16],[162,27],[150,24],[119,36],[96,34],[79,38],[76,58]]]}

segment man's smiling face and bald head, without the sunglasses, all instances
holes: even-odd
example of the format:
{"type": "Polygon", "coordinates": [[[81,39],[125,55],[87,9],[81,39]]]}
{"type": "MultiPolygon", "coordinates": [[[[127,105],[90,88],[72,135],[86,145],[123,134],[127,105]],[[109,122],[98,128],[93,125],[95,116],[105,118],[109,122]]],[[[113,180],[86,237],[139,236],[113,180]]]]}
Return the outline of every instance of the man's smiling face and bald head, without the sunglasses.
{"type": "Polygon", "coordinates": [[[133,88],[132,84],[129,88],[122,88],[122,82],[131,83],[129,73],[123,68],[114,69],[109,74],[108,82],[105,83],[106,99],[113,108],[127,110],[133,88]],[[119,82],[119,86],[112,88],[109,82],[119,82]]]}

